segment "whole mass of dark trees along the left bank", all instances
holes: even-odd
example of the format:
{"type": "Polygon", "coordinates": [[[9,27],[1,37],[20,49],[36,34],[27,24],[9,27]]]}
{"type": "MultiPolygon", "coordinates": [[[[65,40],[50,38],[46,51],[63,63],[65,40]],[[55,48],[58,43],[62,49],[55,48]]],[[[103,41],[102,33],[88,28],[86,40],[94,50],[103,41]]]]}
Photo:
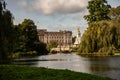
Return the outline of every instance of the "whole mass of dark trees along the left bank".
{"type": "Polygon", "coordinates": [[[13,57],[47,54],[46,44],[39,41],[37,26],[30,19],[13,24],[13,16],[0,0],[0,64],[13,57]]]}

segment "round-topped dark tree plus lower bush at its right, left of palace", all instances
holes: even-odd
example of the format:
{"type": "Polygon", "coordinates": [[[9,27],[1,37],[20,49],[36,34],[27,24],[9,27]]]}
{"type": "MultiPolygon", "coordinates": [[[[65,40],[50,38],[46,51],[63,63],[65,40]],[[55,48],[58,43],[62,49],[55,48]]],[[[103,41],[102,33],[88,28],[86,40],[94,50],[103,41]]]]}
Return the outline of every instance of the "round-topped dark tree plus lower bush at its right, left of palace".
{"type": "Polygon", "coordinates": [[[15,29],[18,34],[15,53],[23,52],[24,55],[31,55],[36,51],[38,55],[47,54],[46,44],[39,41],[37,27],[32,20],[24,19],[15,29]]]}

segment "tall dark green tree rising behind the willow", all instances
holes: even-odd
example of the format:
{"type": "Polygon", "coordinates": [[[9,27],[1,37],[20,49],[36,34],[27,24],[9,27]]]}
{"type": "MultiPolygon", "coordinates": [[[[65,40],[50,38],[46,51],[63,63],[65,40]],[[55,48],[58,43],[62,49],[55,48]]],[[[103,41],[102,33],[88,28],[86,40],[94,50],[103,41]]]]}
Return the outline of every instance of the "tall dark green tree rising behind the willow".
{"type": "Polygon", "coordinates": [[[84,16],[84,18],[88,21],[88,23],[110,20],[108,14],[111,6],[106,0],[90,0],[88,2],[87,9],[89,10],[89,14],[84,16]]]}

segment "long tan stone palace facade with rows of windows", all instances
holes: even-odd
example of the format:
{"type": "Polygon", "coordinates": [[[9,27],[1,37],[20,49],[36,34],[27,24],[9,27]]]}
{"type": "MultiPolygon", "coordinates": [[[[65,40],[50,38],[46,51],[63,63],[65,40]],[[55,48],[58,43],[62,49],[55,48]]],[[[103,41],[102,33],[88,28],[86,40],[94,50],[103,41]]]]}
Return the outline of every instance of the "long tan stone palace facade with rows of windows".
{"type": "Polygon", "coordinates": [[[56,41],[61,46],[72,45],[72,31],[49,32],[46,29],[38,29],[37,31],[39,40],[46,44],[50,41],[56,41]]]}

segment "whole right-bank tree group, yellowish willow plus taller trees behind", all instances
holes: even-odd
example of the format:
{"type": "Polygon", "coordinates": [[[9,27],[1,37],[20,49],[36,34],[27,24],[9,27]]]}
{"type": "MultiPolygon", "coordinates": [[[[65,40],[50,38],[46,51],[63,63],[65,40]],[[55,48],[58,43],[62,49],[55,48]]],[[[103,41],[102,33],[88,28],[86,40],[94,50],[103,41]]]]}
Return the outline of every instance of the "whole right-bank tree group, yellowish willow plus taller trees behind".
{"type": "Polygon", "coordinates": [[[88,28],[79,45],[80,53],[120,51],[120,6],[111,8],[106,0],[91,0],[88,5],[88,28]]]}

